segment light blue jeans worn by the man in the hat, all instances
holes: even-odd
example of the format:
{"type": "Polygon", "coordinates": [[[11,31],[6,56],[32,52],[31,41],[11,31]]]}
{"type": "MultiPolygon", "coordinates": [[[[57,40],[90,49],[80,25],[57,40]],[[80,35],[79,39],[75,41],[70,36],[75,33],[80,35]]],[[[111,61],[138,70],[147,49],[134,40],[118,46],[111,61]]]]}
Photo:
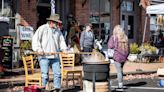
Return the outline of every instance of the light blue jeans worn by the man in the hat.
{"type": "Polygon", "coordinates": [[[55,59],[47,59],[40,58],[39,59],[41,74],[42,74],[42,86],[46,86],[49,76],[49,66],[52,65],[52,70],[54,74],[54,88],[61,88],[61,70],[60,70],[60,60],[58,58],[55,59]]]}

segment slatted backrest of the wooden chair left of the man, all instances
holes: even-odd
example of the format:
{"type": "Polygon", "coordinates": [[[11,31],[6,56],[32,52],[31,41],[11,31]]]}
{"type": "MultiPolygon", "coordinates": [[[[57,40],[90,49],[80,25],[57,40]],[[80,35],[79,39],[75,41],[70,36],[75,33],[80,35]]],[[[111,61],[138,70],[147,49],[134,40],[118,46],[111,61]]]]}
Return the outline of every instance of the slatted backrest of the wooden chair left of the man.
{"type": "Polygon", "coordinates": [[[33,56],[22,56],[23,64],[24,64],[24,70],[25,75],[28,76],[28,71],[31,70],[31,73],[34,73],[34,62],[33,62],[33,56]]]}

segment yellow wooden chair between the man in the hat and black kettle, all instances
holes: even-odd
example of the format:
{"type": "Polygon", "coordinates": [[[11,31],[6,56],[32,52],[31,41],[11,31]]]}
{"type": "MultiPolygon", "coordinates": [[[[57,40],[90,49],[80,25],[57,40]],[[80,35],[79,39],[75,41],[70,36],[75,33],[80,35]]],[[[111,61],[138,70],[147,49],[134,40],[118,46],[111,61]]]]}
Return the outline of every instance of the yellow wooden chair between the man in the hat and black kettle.
{"type": "Polygon", "coordinates": [[[75,80],[79,80],[80,88],[82,89],[82,71],[75,70],[75,54],[60,53],[61,62],[61,83],[66,79],[66,87],[68,88],[68,79],[73,80],[73,86],[75,86],[75,80]]]}

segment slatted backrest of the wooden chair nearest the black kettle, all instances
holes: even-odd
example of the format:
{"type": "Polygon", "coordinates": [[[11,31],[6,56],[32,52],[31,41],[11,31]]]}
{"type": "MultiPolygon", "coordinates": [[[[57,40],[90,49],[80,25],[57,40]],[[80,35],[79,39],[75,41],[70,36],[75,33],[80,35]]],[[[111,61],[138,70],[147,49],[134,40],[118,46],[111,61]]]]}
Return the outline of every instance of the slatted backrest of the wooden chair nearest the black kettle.
{"type": "Polygon", "coordinates": [[[65,68],[74,69],[75,66],[75,54],[72,53],[60,53],[61,70],[65,68]]]}

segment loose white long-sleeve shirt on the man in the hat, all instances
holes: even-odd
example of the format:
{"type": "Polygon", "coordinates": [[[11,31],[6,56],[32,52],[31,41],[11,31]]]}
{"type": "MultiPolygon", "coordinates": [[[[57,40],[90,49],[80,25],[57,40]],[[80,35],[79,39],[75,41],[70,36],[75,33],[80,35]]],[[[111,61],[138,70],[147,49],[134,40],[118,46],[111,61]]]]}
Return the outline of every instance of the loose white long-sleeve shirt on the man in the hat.
{"type": "MultiPolygon", "coordinates": [[[[52,29],[49,24],[40,26],[33,38],[32,49],[36,52],[58,52],[67,49],[65,39],[58,29],[52,29]]],[[[46,58],[57,58],[58,55],[45,55],[46,58]]]]}

